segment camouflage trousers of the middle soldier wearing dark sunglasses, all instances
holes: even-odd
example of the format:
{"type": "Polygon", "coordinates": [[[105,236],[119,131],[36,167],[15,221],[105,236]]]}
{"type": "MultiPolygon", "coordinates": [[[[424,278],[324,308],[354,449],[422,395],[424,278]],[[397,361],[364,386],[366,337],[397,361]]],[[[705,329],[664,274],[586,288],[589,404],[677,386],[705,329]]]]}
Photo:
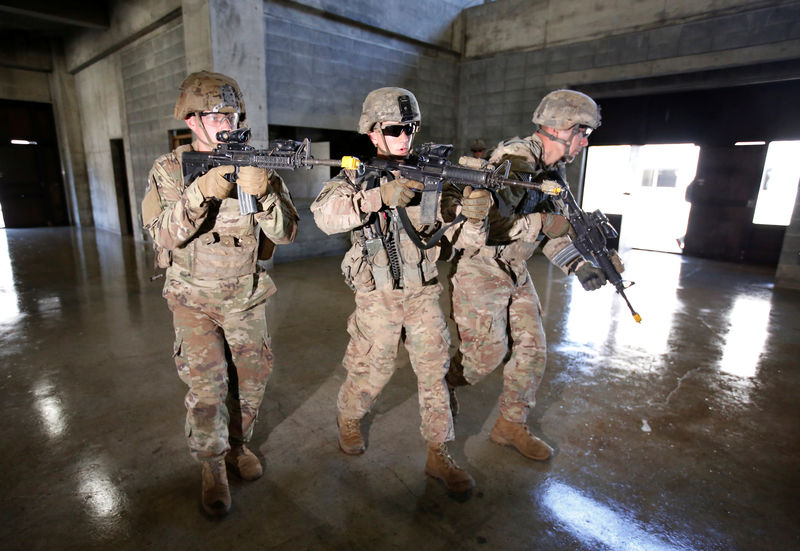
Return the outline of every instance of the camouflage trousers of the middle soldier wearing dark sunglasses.
{"type": "Polygon", "coordinates": [[[337,406],[343,417],[362,418],[396,368],[400,332],[417,376],[420,432],[428,442],[454,438],[453,416],[444,376],[450,335],[439,305],[441,285],[412,290],[356,292],[356,309],[347,321],[350,343],[342,365],[347,379],[337,406]]]}

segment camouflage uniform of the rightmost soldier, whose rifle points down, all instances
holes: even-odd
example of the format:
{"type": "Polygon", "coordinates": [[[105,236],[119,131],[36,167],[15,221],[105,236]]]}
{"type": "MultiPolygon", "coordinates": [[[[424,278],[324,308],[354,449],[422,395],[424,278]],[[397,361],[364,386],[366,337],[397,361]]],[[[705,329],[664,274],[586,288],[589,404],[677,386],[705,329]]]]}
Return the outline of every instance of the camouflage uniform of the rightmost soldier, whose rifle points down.
{"type": "MultiPolygon", "coordinates": [[[[544,167],[542,142],[537,135],[501,142],[490,162],[513,161],[512,168],[535,173],[544,167]]],[[[527,260],[538,246],[541,217],[507,215],[522,200],[524,190],[506,188],[498,193],[500,204],[489,212],[487,243],[464,247],[451,266],[452,315],[460,345],[454,367],[463,366],[470,384],[477,383],[503,361],[511,340],[511,356],[503,371],[500,414],[524,423],[535,404],[546,360],[542,309],[528,272],[527,260]]],[[[455,200],[445,195],[445,202],[455,200]]],[[[543,247],[551,261],[573,250],[569,237],[550,239],[543,247]],[[569,249],[568,249],[569,247],[569,249]]],[[[568,253],[567,253],[568,254],[568,253]]],[[[570,259],[575,260],[575,257],[570,259]]],[[[569,273],[565,262],[557,264],[569,273]]]]}

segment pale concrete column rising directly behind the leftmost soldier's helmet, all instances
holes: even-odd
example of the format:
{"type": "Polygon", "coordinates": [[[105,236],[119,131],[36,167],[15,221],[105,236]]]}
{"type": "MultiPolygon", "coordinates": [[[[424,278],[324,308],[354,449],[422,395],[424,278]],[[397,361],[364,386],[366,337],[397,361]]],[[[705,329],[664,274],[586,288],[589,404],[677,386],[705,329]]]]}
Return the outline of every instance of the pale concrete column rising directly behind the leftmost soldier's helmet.
{"type": "Polygon", "coordinates": [[[251,145],[267,142],[267,79],[262,0],[183,0],[186,71],[236,79],[244,95],[251,145]]]}

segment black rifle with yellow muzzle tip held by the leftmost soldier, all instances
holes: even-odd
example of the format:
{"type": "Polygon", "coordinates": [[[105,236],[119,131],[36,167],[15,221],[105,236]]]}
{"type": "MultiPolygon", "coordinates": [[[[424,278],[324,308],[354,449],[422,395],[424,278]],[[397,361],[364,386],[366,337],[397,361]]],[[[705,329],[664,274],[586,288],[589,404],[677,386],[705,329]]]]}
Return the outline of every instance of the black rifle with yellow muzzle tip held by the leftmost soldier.
{"type": "MultiPolygon", "coordinates": [[[[239,167],[255,166],[269,170],[295,170],[303,167],[337,166],[356,168],[358,159],[343,157],[337,159],[315,159],[311,156],[311,143],[308,139],[301,142],[294,140],[272,140],[267,149],[256,149],[247,145],[250,140],[250,129],[223,130],[217,132],[219,144],[213,151],[187,151],[183,154],[183,181],[187,185],[198,176],[202,176],[215,166],[233,166],[232,174],[225,178],[236,182],[239,167]]],[[[239,198],[239,212],[242,215],[257,212],[256,198],[244,193],[236,186],[239,198]]]]}

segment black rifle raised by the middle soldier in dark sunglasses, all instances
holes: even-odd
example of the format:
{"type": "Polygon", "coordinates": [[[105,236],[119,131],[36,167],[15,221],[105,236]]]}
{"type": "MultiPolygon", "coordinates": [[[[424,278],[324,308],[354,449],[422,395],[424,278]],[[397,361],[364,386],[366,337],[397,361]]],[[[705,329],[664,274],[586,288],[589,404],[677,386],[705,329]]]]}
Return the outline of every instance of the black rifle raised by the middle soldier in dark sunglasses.
{"type": "Polygon", "coordinates": [[[420,222],[433,224],[442,184],[447,181],[473,189],[498,190],[505,186],[518,186],[542,191],[550,195],[561,192],[561,188],[549,182],[525,182],[508,177],[511,163],[506,161],[497,168],[471,168],[452,164],[447,158],[453,146],[450,144],[425,143],[419,146],[408,159],[375,159],[367,163],[357,163],[360,172],[368,170],[397,171],[403,178],[416,180],[424,186],[420,199],[420,222]]]}

